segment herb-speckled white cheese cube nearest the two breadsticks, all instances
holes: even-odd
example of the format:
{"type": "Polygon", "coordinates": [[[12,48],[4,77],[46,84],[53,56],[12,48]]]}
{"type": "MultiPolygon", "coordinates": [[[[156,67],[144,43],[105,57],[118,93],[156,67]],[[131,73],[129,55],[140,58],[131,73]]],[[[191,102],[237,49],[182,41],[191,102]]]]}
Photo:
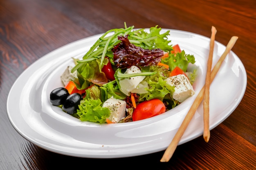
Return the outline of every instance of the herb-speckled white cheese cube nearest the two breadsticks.
{"type": "Polygon", "coordinates": [[[171,86],[175,86],[175,92],[173,92],[173,98],[179,102],[183,102],[186,98],[195,94],[195,91],[189,82],[189,79],[183,75],[178,74],[166,79],[167,83],[171,86]]]}

